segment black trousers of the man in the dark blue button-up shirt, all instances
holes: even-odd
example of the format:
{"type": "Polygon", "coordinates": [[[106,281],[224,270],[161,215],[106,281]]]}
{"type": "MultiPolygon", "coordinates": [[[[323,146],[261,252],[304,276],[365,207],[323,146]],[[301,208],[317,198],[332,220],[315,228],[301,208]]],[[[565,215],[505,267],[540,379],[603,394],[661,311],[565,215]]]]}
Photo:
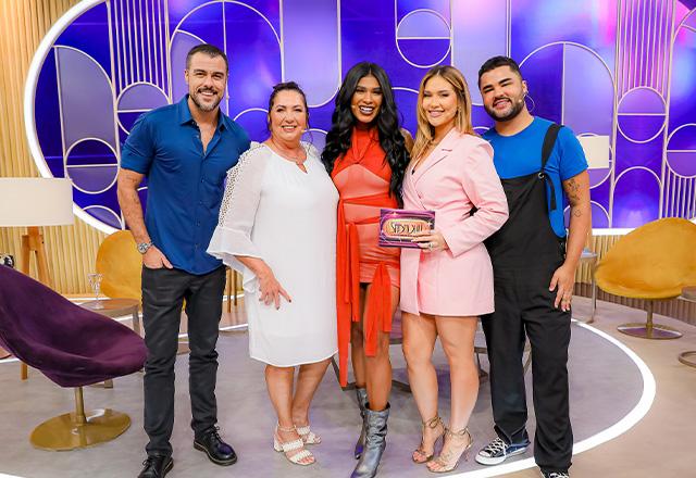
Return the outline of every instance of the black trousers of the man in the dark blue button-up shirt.
{"type": "Polygon", "coordinates": [[[196,276],[181,269],[142,267],[145,363],[145,431],[148,455],[172,454],[174,428],[174,362],[178,348],[182,304],[188,316],[191,428],[201,432],[217,423],[215,379],[217,327],[222,315],[225,268],[196,276]]]}

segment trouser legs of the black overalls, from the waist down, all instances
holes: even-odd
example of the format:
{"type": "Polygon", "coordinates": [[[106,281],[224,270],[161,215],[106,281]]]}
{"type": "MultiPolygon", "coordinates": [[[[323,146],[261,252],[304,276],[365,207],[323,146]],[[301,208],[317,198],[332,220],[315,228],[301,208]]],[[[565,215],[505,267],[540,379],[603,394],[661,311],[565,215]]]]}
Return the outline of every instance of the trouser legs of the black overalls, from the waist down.
{"type": "Polygon", "coordinates": [[[495,268],[495,312],[482,318],[490,361],[490,398],[498,436],[529,442],[522,354],[525,332],[532,345],[536,433],[534,458],[543,471],[567,471],[573,431],[568,404],[570,312],[554,307],[548,286],[552,267],[495,268]]]}

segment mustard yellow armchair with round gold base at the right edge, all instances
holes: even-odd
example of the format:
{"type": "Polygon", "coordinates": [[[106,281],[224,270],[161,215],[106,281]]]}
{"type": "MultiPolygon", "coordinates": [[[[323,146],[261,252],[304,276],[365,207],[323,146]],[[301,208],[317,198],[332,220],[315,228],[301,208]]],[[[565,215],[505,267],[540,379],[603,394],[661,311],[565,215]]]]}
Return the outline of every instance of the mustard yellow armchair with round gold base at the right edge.
{"type": "Polygon", "coordinates": [[[622,324],[621,332],[644,339],[678,339],[672,327],[652,323],[656,300],[674,299],[696,284],[696,225],[668,217],[621,238],[599,261],[597,286],[605,292],[647,302],[645,324],[622,324]]]}

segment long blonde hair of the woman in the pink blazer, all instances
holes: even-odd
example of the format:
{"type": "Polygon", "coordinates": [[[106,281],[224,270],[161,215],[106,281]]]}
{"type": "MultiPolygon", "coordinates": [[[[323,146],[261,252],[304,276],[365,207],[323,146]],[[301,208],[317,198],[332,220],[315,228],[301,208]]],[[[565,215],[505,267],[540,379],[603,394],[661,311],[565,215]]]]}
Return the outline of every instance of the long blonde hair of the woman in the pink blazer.
{"type": "Polygon", "coordinates": [[[447,83],[449,83],[457,96],[457,114],[455,115],[455,128],[459,133],[468,135],[476,135],[474,127],[471,123],[471,95],[469,93],[469,85],[464,75],[459,70],[450,65],[437,65],[432,67],[421,80],[421,86],[418,90],[418,131],[415,131],[415,142],[411,150],[411,159],[418,160],[423,152],[433,143],[433,137],[435,136],[435,128],[431,126],[423,110],[423,91],[425,90],[425,84],[434,76],[442,76],[447,83]]]}

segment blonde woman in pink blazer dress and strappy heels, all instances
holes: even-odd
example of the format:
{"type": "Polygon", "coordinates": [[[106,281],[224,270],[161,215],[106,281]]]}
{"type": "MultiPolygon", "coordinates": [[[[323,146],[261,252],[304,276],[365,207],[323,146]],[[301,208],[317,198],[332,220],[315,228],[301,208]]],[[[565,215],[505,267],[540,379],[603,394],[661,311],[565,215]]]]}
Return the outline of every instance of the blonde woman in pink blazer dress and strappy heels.
{"type": "Polygon", "coordinates": [[[493,148],[474,133],[462,74],[435,66],[421,81],[418,134],[403,179],[403,207],[435,211],[435,228],[401,252],[403,353],[423,422],[413,462],[451,471],[473,439],[467,424],[478,394],[474,364],[477,318],[494,310],[493,267],[483,244],[508,218],[508,203],[493,165],[493,148]],[[449,363],[451,411],[437,413],[432,363],[439,336],[449,363]],[[444,437],[440,454],[435,443],[444,437]]]}

